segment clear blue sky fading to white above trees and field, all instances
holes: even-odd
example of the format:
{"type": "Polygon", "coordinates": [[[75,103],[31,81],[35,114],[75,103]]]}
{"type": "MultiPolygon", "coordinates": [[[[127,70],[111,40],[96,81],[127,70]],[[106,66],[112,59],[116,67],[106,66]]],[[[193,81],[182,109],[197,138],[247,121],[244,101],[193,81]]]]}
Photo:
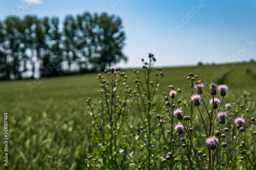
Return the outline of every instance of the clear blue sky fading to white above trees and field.
{"type": "MultiPolygon", "coordinates": [[[[148,52],[156,66],[249,61],[256,58],[256,1],[1,0],[0,19],[16,14],[58,16],[84,11],[118,15],[126,33],[118,67],[139,67],[148,52]]],[[[61,26],[60,26],[61,27],[61,26]]]]}

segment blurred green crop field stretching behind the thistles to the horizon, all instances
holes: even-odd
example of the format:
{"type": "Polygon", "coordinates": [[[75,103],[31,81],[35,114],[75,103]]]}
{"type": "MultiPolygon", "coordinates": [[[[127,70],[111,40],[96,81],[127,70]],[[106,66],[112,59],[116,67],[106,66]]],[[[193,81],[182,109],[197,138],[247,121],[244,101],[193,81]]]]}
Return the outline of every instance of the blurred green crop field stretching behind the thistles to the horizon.
{"type": "MultiPolygon", "coordinates": [[[[133,69],[121,71],[126,72],[128,76],[127,85],[132,91],[136,90],[133,69]]],[[[250,109],[245,115],[247,127],[250,127],[250,117],[254,116],[256,111],[255,62],[172,67],[163,68],[162,71],[164,77],[157,90],[156,103],[161,103],[164,91],[169,92],[168,85],[174,85],[175,90],[182,89],[182,93],[177,94],[177,100],[189,99],[191,91],[186,77],[189,72],[193,72],[198,75],[197,80],[202,80],[205,84],[204,95],[207,100],[210,98],[208,84],[211,82],[229,86],[224,104],[240,101],[243,92],[247,91],[252,98],[250,109]]],[[[104,76],[104,73],[101,74],[104,76]]],[[[90,97],[92,102],[99,99],[97,90],[100,82],[96,79],[97,75],[98,73],[47,78],[41,82],[0,82],[0,169],[5,169],[5,112],[8,113],[8,169],[81,169],[80,165],[85,165],[84,159],[89,156],[92,140],[90,134],[93,119],[87,110],[87,98],[90,97]],[[31,85],[34,88],[29,89],[28,86],[31,88],[31,85]]],[[[183,109],[186,109],[185,105],[183,109]]],[[[136,108],[131,107],[129,114],[136,117],[136,112],[136,108]]],[[[255,126],[252,128],[251,131],[256,131],[255,126]]],[[[246,143],[246,150],[255,148],[255,137],[252,133],[248,134],[250,138],[247,141],[251,143],[246,143]]],[[[182,155],[182,151],[180,152],[182,155]]],[[[239,153],[237,155],[240,157],[239,153]]],[[[251,157],[255,159],[255,154],[251,157]]]]}

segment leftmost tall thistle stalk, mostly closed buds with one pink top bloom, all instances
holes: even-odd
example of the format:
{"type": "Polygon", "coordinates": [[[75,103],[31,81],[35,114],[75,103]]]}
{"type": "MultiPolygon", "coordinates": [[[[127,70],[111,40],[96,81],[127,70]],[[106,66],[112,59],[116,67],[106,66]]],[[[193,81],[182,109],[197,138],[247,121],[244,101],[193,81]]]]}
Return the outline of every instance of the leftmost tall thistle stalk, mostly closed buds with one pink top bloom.
{"type": "Polygon", "coordinates": [[[99,107],[91,104],[88,98],[89,114],[93,117],[91,137],[93,148],[91,155],[86,159],[88,169],[119,169],[127,167],[127,151],[129,143],[123,138],[127,131],[124,125],[127,119],[127,102],[131,98],[131,89],[126,85],[127,76],[124,72],[116,71],[116,67],[110,67],[110,71],[104,70],[105,78],[99,74],[100,82],[99,107]],[[97,108],[97,109],[95,109],[97,108]],[[120,156],[121,153],[125,153],[120,156]]]}

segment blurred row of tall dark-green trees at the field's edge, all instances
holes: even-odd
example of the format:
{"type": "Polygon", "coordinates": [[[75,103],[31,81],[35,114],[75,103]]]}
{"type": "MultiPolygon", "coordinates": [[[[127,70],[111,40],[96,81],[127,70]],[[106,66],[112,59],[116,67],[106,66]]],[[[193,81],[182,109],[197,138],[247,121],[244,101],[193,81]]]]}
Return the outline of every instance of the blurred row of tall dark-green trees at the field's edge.
{"type": "Polygon", "coordinates": [[[107,13],[67,15],[62,29],[58,17],[8,16],[0,20],[0,80],[104,70],[127,61],[124,40],[121,18],[107,13]]]}

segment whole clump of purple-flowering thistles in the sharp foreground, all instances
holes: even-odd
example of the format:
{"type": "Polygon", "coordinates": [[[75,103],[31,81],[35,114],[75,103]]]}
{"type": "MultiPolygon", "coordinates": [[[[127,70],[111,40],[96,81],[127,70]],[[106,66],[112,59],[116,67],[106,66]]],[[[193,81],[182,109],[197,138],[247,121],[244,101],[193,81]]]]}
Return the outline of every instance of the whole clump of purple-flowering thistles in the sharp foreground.
{"type": "Polygon", "coordinates": [[[226,170],[239,163],[255,169],[255,147],[245,144],[246,135],[256,135],[255,118],[246,123],[253,104],[249,93],[233,101],[227,85],[211,83],[207,90],[190,72],[189,95],[169,85],[161,97],[164,74],[155,62],[152,53],[142,59],[142,69],[133,71],[133,89],[115,67],[98,75],[99,102],[87,100],[93,126],[84,168],[226,170]]]}

